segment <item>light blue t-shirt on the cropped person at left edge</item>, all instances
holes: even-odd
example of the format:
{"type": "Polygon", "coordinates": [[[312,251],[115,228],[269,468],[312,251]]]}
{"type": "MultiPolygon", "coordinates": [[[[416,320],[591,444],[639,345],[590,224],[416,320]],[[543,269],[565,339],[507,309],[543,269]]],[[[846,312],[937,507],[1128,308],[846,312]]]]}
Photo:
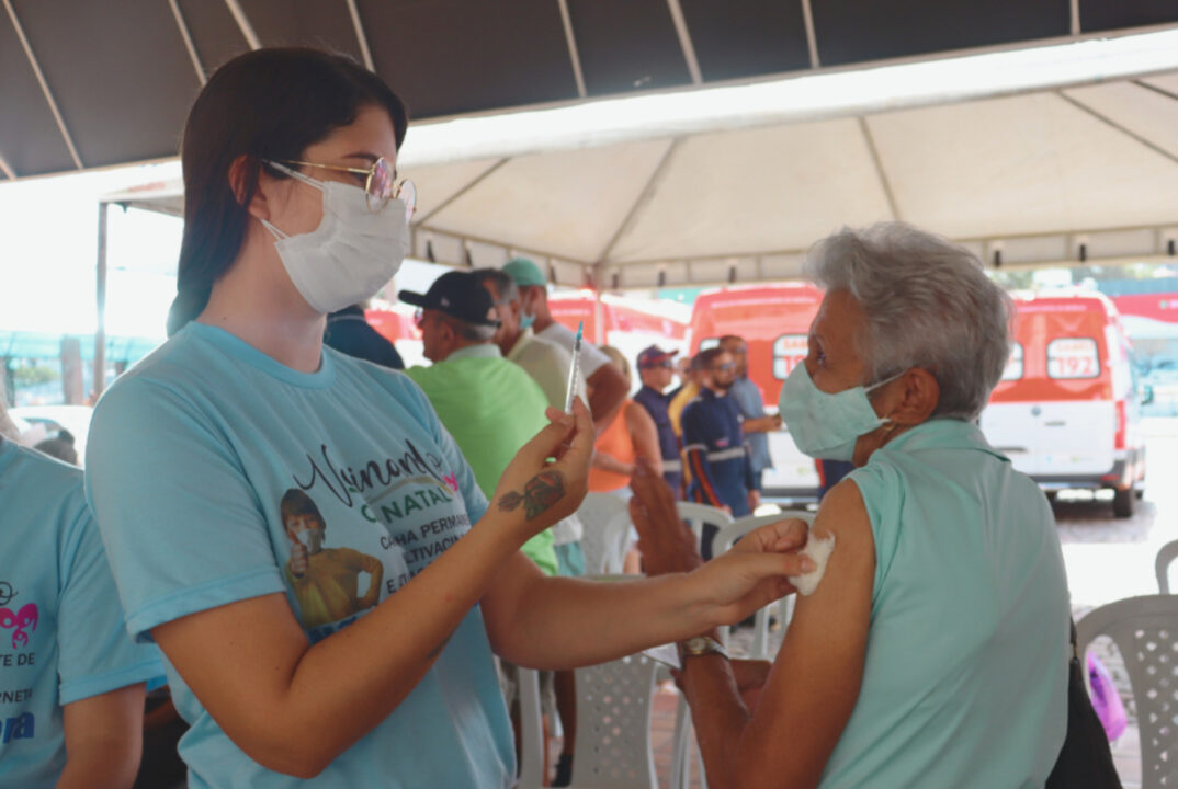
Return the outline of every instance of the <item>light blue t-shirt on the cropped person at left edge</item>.
{"type": "Polygon", "coordinates": [[[81,469],[0,442],[0,785],[48,789],[66,763],[61,708],[164,667],[123,628],[81,469]]]}

